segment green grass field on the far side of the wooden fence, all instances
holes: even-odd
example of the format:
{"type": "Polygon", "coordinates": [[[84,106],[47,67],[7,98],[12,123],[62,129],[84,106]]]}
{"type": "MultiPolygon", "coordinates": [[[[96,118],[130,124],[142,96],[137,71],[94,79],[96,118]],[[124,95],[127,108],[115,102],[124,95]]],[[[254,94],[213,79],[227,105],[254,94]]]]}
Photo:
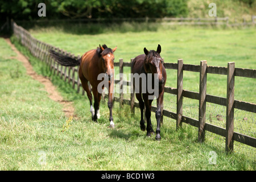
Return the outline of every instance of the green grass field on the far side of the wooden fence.
{"type": "MultiPolygon", "coordinates": [[[[90,34],[86,24],[68,24],[60,27],[34,28],[30,30],[35,38],[59,47],[75,55],[82,55],[98,44],[106,44],[115,51],[115,61],[123,58],[129,62],[131,58],[143,53],[143,48],[156,49],[162,46],[161,56],[166,63],[177,63],[183,59],[184,64],[200,65],[201,60],[207,60],[208,65],[227,67],[228,62],[234,61],[237,68],[256,68],[256,38],[254,27],[247,28],[209,28],[188,26],[162,26],[153,24],[143,29],[145,24],[89,24],[102,31],[90,34]],[[69,28],[67,28],[69,27],[69,28]],[[142,29],[142,31],[140,31],[142,29]],[[126,31],[125,31],[126,30],[126,31]]],[[[130,70],[125,69],[127,73],[130,70]]],[[[176,88],[175,71],[168,70],[167,86],[176,88]]],[[[184,72],[184,89],[199,92],[199,73],[184,72]]],[[[255,79],[236,77],[236,100],[256,102],[254,89],[255,79]],[[238,86],[237,86],[238,85],[238,86]],[[241,86],[240,86],[241,85],[241,86]]],[[[226,77],[208,74],[207,92],[225,97],[226,77]],[[222,88],[223,86],[223,88],[222,88]]]]}

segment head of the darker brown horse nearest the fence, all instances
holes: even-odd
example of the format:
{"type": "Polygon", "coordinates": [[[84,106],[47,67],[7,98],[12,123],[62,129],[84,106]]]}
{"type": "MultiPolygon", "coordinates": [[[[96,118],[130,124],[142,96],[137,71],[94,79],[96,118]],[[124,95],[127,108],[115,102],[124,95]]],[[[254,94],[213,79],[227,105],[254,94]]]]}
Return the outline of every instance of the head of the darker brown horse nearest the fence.
{"type": "Polygon", "coordinates": [[[161,46],[158,44],[158,48],[156,51],[151,50],[148,51],[146,47],[144,47],[144,53],[146,55],[144,60],[144,69],[147,73],[158,74],[159,83],[164,82],[164,77],[162,75],[163,68],[163,59],[160,56],[161,46]]]}

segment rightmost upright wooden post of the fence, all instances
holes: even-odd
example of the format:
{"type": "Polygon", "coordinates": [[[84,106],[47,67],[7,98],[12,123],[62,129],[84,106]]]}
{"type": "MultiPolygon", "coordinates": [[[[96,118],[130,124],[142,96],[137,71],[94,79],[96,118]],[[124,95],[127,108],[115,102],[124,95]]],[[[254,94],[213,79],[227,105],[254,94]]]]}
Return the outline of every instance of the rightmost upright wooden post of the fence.
{"type": "Polygon", "coordinates": [[[228,63],[226,86],[226,152],[229,154],[234,148],[234,62],[228,63]]]}

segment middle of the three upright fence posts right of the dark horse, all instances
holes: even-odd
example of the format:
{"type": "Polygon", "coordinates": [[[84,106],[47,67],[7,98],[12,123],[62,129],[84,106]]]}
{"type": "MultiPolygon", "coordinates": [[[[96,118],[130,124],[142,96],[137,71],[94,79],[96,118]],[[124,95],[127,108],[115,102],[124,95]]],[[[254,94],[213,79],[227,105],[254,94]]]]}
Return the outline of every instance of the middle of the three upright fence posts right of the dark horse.
{"type": "Polygon", "coordinates": [[[206,118],[207,61],[200,62],[198,141],[204,142],[206,118]]]}

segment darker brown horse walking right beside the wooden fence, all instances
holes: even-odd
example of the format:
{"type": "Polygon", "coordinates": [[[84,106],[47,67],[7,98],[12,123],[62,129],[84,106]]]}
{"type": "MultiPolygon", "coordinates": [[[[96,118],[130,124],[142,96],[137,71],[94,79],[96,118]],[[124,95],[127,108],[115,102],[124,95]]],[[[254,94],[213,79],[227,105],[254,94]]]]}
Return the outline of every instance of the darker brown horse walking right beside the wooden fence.
{"type": "Polygon", "coordinates": [[[131,64],[131,71],[133,73],[133,86],[136,93],[136,98],[139,101],[139,108],[141,109],[141,130],[145,130],[146,126],[144,125],[143,119],[143,110],[144,105],[146,106],[146,120],[147,120],[147,136],[150,137],[151,133],[154,133],[151,124],[151,104],[154,99],[154,96],[157,98],[157,109],[155,113],[157,127],[156,127],[156,140],[160,140],[160,117],[161,117],[161,107],[163,104],[163,94],[164,94],[164,85],[166,84],[166,69],[163,66],[163,60],[160,56],[161,46],[158,45],[156,51],[148,51],[146,47],[144,48],[144,54],[139,55],[134,58],[133,63],[131,64]],[[134,75],[138,73],[139,82],[135,82],[134,75]],[[145,75],[146,80],[143,81],[143,75],[145,75]],[[154,75],[154,79],[149,80],[149,76],[154,75]],[[143,85],[144,84],[144,85],[143,85]],[[148,86],[152,86],[154,90],[158,92],[149,93],[148,86]],[[145,87],[146,88],[143,88],[145,87]],[[143,92],[146,90],[146,92],[143,92]],[[150,97],[151,96],[151,97],[150,97]]]}

